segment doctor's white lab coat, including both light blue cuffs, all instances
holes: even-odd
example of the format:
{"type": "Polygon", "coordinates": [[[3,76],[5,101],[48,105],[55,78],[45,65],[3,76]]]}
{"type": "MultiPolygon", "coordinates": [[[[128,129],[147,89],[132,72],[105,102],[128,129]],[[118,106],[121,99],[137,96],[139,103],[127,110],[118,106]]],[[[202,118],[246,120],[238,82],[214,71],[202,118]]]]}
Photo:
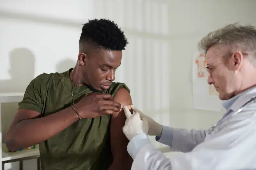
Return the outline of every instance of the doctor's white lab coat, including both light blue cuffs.
{"type": "Polygon", "coordinates": [[[146,134],[134,137],[127,147],[134,159],[131,170],[255,170],[256,103],[230,114],[255,95],[256,88],[252,88],[239,96],[227,110],[227,121],[210,135],[205,130],[163,126],[159,142],[169,145],[171,151],[180,151],[170,159],[146,139],[146,134]],[[167,139],[172,140],[168,143],[167,139]]]}

